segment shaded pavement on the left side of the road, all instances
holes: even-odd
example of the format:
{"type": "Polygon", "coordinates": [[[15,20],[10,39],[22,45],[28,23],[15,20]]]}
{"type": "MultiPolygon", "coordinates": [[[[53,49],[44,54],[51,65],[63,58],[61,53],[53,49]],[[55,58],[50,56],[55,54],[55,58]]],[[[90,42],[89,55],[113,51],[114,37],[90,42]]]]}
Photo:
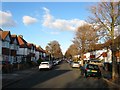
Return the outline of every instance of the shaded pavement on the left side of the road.
{"type": "Polygon", "coordinates": [[[12,73],[2,74],[2,88],[16,83],[24,79],[24,77],[33,74],[37,68],[38,67],[36,66],[25,70],[13,71],[12,73]]]}

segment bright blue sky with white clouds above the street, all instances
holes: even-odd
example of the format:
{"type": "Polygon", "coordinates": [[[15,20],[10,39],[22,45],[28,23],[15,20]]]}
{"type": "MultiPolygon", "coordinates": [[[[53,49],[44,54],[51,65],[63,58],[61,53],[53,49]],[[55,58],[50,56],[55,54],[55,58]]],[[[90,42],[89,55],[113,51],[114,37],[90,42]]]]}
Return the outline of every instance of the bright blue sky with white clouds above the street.
{"type": "Polygon", "coordinates": [[[56,40],[65,53],[78,26],[86,23],[95,2],[2,2],[0,27],[45,49],[56,40]],[[85,21],[86,20],[86,21],[85,21]]]}

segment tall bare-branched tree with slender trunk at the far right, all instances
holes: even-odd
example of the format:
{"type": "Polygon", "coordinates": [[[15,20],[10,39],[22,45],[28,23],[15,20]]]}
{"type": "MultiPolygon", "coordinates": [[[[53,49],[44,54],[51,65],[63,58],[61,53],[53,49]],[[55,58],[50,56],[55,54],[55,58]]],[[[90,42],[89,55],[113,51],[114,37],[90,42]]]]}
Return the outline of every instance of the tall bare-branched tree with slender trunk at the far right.
{"type": "MultiPolygon", "coordinates": [[[[114,0],[113,0],[114,1],[114,0]]],[[[117,65],[115,59],[115,27],[120,24],[120,1],[118,2],[100,2],[97,6],[90,9],[93,17],[89,17],[92,23],[97,24],[102,30],[108,32],[108,37],[112,40],[112,79],[118,78],[117,65]]]]}

